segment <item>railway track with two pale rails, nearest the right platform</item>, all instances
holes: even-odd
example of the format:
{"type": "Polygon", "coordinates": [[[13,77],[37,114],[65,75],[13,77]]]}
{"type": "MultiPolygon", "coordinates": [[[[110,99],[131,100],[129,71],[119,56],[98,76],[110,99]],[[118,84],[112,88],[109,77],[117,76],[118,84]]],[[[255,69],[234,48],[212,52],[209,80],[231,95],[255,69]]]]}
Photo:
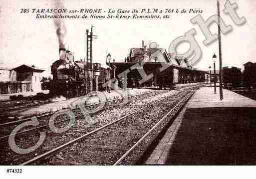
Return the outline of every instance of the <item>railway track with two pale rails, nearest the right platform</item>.
{"type": "Polygon", "coordinates": [[[179,108],[181,108],[184,105],[184,103],[189,99],[189,97],[192,94],[193,94],[193,92],[186,93],[185,97],[183,96],[182,99],[177,100],[179,102],[175,103],[175,105],[174,104],[171,105],[171,110],[168,110],[167,114],[165,114],[163,117],[161,117],[160,120],[158,120],[158,119],[154,120],[153,123],[155,123],[155,124],[147,125],[149,127],[149,130],[148,131],[146,129],[141,130],[140,135],[136,135],[137,137],[135,137],[135,140],[129,141],[129,139],[127,139],[127,136],[134,135],[134,132],[136,134],[136,131],[138,131],[138,129],[137,129],[138,123],[136,122],[136,119],[138,118],[138,116],[141,116],[141,114],[144,113],[145,110],[147,111],[149,109],[152,109],[152,107],[158,106],[161,101],[164,101],[164,100],[169,101],[169,99],[173,98],[175,95],[164,97],[163,99],[160,99],[160,100],[153,102],[145,107],[142,107],[142,108],[140,108],[128,115],[125,115],[117,120],[114,120],[102,127],[96,128],[93,131],[90,131],[78,138],[75,138],[75,139],[73,139],[61,146],[58,146],[46,153],[36,156],[36,157],[32,158],[31,160],[28,160],[28,161],[22,163],[21,165],[36,164],[36,162],[38,162],[38,160],[41,160],[41,161],[39,161],[39,164],[50,165],[50,163],[47,162],[47,159],[46,159],[46,162],[43,161],[43,159],[47,158],[47,157],[49,159],[50,155],[56,153],[57,151],[63,150],[70,145],[74,145],[74,143],[77,143],[81,140],[83,140],[81,143],[83,143],[85,145],[79,146],[79,148],[82,147],[82,149],[80,148],[82,151],[87,149],[88,150],[87,155],[90,156],[89,157],[90,160],[87,159],[88,163],[85,162],[83,164],[85,164],[85,165],[91,165],[91,164],[92,165],[94,165],[94,164],[118,165],[128,155],[130,155],[132,153],[132,151],[138,145],[140,145],[142,143],[142,141],[145,140],[149,136],[149,134],[152,131],[154,131],[167,118],[168,115],[170,115],[171,113],[178,112],[179,108]],[[131,128],[135,128],[135,129],[131,130],[131,128]],[[111,135],[113,133],[116,133],[116,131],[118,131],[119,135],[115,135],[115,136],[111,135]],[[101,133],[101,134],[98,135],[98,133],[101,133]],[[123,133],[126,133],[126,134],[123,134],[123,133]],[[142,134],[144,134],[144,135],[142,135],[142,134]],[[114,137],[115,139],[112,140],[111,137],[109,138],[109,135],[111,135],[112,138],[114,137]],[[139,136],[141,136],[141,135],[142,135],[142,137],[139,138],[139,136]],[[137,138],[139,139],[138,141],[136,141],[137,138]],[[117,142],[114,140],[116,140],[117,142]],[[124,145],[123,143],[125,143],[125,140],[128,140],[128,144],[124,145]],[[106,147],[105,145],[103,145],[103,143],[109,143],[109,142],[110,143],[115,142],[115,145],[113,145],[113,147],[117,148],[117,146],[119,146],[118,150],[117,149],[113,150],[110,148],[110,146],[106,147]],[[100,148],[100,151],[97,151],[97,150],[99,150],[99,148],[100,148]],[[126,148],[128,150],[125,152],[126,148]],[[108,157],[106,159],[102,159],[102,156],[104,156],[105,154],[107,154],[108,157]]]}

